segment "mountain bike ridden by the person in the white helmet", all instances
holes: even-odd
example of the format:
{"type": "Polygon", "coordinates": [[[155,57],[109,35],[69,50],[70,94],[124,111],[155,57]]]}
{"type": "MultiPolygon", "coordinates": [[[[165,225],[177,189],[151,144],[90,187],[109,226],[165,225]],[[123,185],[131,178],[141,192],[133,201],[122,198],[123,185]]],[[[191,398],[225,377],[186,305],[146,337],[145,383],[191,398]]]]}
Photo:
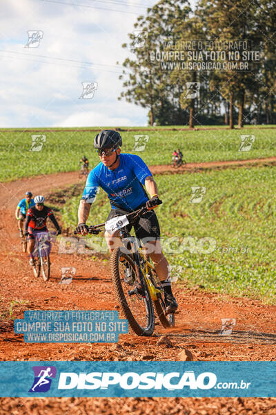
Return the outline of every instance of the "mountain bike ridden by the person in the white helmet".
{"type": "Polygon", "coordinates": [[[40,273],[43,281],[48,281],[50,277],[50,250],[51,241],[56,232],[39,232],[34,234],[34,249],[32,250],[34,265],[32,266],[34,277],[39,277],[40,273]]]}

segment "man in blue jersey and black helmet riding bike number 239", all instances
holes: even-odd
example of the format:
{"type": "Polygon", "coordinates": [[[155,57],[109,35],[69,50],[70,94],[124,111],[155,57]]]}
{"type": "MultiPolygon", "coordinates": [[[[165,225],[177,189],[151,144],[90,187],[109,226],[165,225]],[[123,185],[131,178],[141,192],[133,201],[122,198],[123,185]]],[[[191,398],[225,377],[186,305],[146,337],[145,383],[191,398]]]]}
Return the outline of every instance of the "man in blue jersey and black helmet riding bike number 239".
{"type": "MultiPolygon", "coordinates": [[[[122,214],[128,214],[145,206],[150,209],[159,201],[157,184],[155,183],[148,166],[134,154],[121,154],[122,140],[117,131],[103,130],[94,140],[101,163],[91,170],[86,181],[86,187],[79,203],[79,224],[77,232],[86,235],[88,226],[86,221],[92,203],[99,187],[107,194],[111,210],[109,219],[122,214]],[[145,188],[146,190],[145,190],[145,188]],[[148,194],[150,194],[150,199],[148,194]]],[[[134,223],[137,238],[146,241],[150,258],[164,287],[167,313],[177,309],[177,302],[172,295],[171,284],[168,280],[168,261],[161,250],[160,228],[157,216],[153,210],[148,210],[134,223]]],[[[114,249],[114,234],[105,233],[110,252],[114,249]]]]}

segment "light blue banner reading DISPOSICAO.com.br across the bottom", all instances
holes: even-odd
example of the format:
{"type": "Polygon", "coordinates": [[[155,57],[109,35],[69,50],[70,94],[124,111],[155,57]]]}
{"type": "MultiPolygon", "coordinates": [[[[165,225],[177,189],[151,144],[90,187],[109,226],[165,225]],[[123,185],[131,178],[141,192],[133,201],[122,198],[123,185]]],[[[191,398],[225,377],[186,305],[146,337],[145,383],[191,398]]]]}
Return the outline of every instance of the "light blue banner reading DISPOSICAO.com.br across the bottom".
{"type": "Polygon", "coordinates": [[[274,397],[276,362],[0,362],[0,396],[274,397]]]}

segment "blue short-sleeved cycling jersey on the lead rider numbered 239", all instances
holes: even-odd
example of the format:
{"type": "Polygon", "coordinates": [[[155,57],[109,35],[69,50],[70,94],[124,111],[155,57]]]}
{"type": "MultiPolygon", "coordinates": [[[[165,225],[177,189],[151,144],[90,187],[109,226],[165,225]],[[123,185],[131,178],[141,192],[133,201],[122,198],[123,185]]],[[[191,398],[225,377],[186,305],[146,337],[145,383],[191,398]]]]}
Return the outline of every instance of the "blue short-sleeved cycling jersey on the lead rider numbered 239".
{"type": "Polygon", "coordinates": [[[119,167],[115,170],[108,169],[103,163],[91,170],[82,200],[93,203],[101,187],[108,194],[112,209],[132,211],[148,201],[142,185],[145,184],[146,177],[152,174],[146,163],[134,154],[120,154],[119,160],[119,167]]]}

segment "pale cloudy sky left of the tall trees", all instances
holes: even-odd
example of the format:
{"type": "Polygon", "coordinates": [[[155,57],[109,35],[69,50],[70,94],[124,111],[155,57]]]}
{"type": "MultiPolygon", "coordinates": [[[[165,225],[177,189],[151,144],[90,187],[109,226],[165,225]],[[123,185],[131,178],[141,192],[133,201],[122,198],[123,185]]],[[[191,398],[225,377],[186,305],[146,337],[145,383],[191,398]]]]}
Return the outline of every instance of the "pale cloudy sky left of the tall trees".
{"type": "Polygon", "coordinates": [[[147,125],[148,109],[117,98],[121,64],[130,57],[121,44],[156,2],[5,0],[0,128],[147,125]]]}

